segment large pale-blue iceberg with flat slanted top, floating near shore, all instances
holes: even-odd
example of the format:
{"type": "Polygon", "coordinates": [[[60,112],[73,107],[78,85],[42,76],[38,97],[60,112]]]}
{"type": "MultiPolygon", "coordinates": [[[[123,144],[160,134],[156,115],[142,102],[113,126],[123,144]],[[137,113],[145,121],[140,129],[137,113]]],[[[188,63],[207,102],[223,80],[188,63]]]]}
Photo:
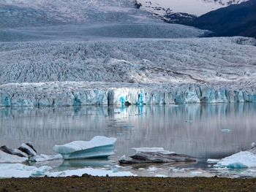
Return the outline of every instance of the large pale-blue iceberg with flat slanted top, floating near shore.
{"type": "Polygon", "coordinates": [[[94,137],[91,141],[75,141],[65,145],[55,145],[53,151],[64,159],[106,158],[113,155],[116,138],[94,137]]]}

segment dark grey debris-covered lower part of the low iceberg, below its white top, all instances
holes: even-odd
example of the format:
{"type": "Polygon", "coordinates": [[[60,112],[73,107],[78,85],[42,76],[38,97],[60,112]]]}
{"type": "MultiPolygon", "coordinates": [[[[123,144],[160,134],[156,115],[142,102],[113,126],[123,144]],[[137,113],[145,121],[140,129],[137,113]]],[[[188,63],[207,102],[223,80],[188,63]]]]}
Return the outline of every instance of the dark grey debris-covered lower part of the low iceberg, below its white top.
{"type": "Polygon", "coordinates": [[[189,155],[177,153],[160,153],[160,152],[140,152],[130,156],[132,160],[120,160],[120,164],[148,164],[148,163],[170,163],[170,162],[185,162],[197,161],[189,155]]]}

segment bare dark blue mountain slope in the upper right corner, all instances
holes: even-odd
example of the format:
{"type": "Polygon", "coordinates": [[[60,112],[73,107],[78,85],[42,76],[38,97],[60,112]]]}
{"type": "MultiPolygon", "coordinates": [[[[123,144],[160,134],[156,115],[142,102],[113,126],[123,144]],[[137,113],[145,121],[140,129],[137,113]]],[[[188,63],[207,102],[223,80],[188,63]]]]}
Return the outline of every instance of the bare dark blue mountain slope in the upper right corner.
{"type": "Polygon", "coordinates": [[[256,1],[209,12],[195,19],[192,26],[214,31],[214,36],[256,37],[256,1]]]}

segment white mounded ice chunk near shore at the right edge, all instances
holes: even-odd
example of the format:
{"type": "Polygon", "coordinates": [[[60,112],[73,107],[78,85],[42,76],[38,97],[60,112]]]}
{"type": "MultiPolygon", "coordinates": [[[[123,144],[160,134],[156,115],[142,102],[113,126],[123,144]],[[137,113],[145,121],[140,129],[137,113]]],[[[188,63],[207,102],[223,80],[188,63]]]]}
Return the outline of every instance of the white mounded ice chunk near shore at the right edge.
{"type": "Polygon", "coordinates": [[[249,151],[241,151],[226,158],[222,158],[222,160],[214,166],[234,169],[256,167],[256,155],[249,151]]]}

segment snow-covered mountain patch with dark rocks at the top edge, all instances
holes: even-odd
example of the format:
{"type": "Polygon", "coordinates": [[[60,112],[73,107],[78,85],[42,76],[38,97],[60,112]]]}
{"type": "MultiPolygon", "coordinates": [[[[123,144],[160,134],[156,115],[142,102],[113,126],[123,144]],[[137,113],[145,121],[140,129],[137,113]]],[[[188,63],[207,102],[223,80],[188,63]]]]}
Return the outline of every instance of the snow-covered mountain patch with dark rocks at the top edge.
{"type": "Polygon", "coordinates": [[[240,4],[248,0],[138,0],[141,9],[148,10],[170,23],[192,20],[213,10],[240,4]]]}

